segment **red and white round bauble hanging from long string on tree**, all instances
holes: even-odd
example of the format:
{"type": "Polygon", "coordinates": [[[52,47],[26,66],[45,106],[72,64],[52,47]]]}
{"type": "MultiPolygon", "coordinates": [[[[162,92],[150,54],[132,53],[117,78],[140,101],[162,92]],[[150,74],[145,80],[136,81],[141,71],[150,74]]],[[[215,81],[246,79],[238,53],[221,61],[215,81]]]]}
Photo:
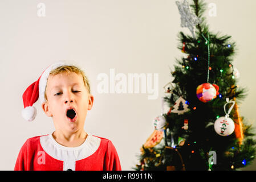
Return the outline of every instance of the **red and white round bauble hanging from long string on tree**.
{"type": "Polygon", "coordinates": [[[215,84],[204,83],[197,86],[197,98],[206,103],[217,97],[219,87],[215,84]]]}

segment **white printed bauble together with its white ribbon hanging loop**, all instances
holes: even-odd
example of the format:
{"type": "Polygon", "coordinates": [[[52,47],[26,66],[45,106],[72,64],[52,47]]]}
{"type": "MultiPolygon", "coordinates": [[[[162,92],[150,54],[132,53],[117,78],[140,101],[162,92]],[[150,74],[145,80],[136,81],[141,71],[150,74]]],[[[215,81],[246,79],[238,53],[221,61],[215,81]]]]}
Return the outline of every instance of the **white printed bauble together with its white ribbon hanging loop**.
{"type": "Polygon", "coordinates": [[[228,136],[233,133],[235,130],[234,121],[229,118],[229,114],[235,105],[235,101],[229,100],[226,98],[227,103],[224,105],[224,111],[226,113],[225,117],[220,117],[214,122],[214,130],[217,134],[221,136],[228,136]],[[229,110],[226,112],[226,105],[232,104],[229,110]]]}

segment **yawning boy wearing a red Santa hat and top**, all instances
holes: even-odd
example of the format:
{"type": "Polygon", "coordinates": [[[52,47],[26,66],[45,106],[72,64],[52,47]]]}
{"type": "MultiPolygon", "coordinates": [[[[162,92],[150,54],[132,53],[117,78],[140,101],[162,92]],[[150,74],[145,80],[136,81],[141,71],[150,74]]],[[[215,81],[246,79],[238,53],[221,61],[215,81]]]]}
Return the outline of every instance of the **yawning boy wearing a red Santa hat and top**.
{"type": "Polygon", "coordinates": [[[65,61],[52,64],[26,89],[22,116],[27,121],[35,118],[32,105],[38,97],[55,131],[27,139],[14,170],[121,170],[112,142],[84,131],[94,97],[79,67],[65,61]]]}

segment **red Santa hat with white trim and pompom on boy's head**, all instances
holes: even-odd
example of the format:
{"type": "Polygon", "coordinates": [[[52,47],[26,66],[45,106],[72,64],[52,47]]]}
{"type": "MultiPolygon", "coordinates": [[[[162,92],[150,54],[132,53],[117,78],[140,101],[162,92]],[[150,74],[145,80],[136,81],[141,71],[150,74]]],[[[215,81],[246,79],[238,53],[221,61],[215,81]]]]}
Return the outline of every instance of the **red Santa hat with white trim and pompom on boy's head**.
{"type": "Polygon", "coordinates": [[[50,75],[50,72],[58,67],[63,65],[73,65],[78,67],[78,64],[70,63],[70,61],[58,61],[57,63],[51,64],[48,68],[46,68],[42,75],[32,83],[23,93],[23,104],[24,109],[22,110],[22,117],[27,121],[33,121],[36,117],[36,108],[33,104],[40,99],[41,104],[45,102],[44,92],[46,90],[47,78],[50,75]]]}

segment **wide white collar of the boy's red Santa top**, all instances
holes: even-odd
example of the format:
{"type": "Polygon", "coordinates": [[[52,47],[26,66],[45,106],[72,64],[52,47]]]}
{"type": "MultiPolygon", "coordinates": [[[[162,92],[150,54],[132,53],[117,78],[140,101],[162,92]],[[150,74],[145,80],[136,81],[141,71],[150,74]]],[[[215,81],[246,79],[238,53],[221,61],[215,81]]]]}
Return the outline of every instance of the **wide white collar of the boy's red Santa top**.
{"type": "Polygon", "coordinates": [[[94,154],[100,146],[100,138],[87,133],[86,140],[78,147],[65,147],[56,142],[52,134],[40,137],[43,150],[58,160],[81,160],[94,154]]]}

